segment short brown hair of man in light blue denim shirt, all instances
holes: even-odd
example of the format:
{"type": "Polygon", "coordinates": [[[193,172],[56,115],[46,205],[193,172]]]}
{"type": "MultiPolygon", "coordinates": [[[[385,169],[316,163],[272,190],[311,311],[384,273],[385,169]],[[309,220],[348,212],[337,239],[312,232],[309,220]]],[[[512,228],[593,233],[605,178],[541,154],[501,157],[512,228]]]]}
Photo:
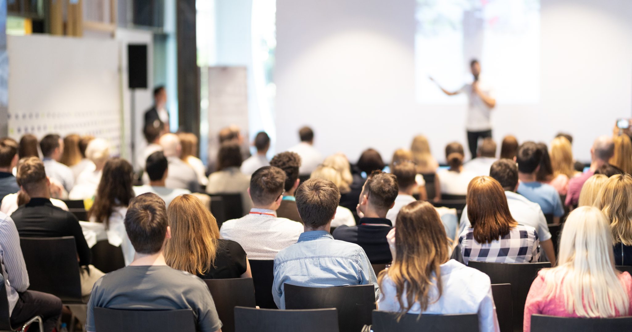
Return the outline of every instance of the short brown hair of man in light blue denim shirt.
{"type": "Polygon", "coordinates": [[[327,179],[309,179],[296,189],[296,208],[303,223],[310,228],[327,225],[336,215],[340,191],[327,179]]]}

